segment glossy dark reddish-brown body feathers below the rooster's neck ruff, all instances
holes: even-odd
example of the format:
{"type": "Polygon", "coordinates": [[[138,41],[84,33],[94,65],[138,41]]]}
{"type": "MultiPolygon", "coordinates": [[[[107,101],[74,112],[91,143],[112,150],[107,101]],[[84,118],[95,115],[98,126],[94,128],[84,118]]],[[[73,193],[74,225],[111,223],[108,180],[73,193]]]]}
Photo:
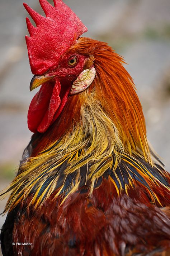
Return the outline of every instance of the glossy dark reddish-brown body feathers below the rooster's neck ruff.
{"type": "Polygon", "coordinates": [[[119,197],[103,180],[91,197],[75,193],[58,207],[51,196],[41,208],[25,212],[29,200],[20,207],[13,240],[33,245],[14,247],[16,255],[25,250],[44,256],[146,255],[170,248],[170,221],[140,187],[119,197]]]}

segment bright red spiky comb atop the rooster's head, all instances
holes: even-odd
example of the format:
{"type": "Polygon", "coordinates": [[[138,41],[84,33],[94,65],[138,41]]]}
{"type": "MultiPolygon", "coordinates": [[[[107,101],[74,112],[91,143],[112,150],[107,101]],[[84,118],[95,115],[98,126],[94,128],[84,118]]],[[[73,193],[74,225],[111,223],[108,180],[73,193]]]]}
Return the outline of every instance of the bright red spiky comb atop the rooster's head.
{"type": "Polygon", "coordinates": [[[33,74],[42,75],[49,68],[57,66],[61,55],[87,28],[76,14],[63,3],[53,0],[54,6],[47,0],[39,0],[46,17],[23,4],[37,27],[26,18],[29,36],[26,36],[30,67],[33,74]]]}

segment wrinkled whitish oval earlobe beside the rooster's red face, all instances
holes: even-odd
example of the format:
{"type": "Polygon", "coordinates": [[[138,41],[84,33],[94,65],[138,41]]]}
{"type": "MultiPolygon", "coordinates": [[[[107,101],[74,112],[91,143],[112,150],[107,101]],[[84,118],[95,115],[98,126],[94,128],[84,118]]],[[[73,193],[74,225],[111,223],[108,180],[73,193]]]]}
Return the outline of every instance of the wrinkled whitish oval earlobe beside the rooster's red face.
{"type": "Polygon", "coordinates": [[[93,82],[95,75],[96,70],[94,67],[92,67],[91,69],[83,70],[81,74],[77,77],[77,79],[74,81],[70,91],[70,95],[74,95],[87,89],[93,82]]]}

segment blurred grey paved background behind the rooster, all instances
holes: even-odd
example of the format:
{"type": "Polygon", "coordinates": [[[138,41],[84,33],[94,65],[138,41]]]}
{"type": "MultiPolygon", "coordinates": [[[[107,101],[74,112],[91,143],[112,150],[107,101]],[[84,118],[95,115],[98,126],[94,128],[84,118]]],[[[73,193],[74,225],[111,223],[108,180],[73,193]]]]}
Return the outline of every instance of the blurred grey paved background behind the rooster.
{"type": "MultiPolygon", "coordinates": [[[[25,0],[42,14],[38,0],[25,0]]],[[[24,35],[22,0],[0,0],[0,190],[15,176],[28,144],[27,111],[35,91],[24,35]]],[[[50,1],[52,3],[52,1],[50,1]]],[[[142,102],[147,136],[170,170],[170,1],[65,0],[88,27],[129,64],[142,102]]],[[[0,201],[0,212],[5,200],[0,201]]],[[[5,217],[0,217],[0,226],[5,217]]]]}

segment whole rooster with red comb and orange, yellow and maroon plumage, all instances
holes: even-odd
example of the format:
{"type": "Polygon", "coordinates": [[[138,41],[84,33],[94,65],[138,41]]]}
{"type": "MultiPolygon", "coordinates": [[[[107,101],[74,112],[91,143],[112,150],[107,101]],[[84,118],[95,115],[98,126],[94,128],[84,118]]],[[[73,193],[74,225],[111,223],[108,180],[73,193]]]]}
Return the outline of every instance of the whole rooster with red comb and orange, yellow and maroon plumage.
{"type": "Polygon", "coordinates": [[[170,255],[170,176],[123,59],[62,2],[24,4],[34,134],[10,193],[3,255],[170,255]]]}

